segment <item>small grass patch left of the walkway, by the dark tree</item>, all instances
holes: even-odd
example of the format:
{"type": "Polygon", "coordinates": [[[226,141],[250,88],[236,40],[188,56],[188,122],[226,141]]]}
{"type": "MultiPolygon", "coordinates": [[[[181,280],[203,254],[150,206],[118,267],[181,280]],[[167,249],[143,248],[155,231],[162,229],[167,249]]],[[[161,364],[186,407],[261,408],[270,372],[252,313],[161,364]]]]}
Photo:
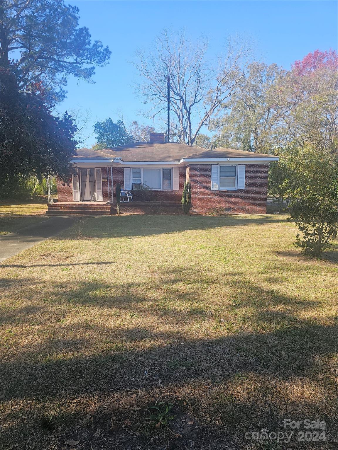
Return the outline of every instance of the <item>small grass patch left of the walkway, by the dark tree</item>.
{"type": "Polygon", "coordinates": [[[46,209],[47,198],[42,196],[26,201],[0,200],[0,236],[48,219],[46,209]]]}

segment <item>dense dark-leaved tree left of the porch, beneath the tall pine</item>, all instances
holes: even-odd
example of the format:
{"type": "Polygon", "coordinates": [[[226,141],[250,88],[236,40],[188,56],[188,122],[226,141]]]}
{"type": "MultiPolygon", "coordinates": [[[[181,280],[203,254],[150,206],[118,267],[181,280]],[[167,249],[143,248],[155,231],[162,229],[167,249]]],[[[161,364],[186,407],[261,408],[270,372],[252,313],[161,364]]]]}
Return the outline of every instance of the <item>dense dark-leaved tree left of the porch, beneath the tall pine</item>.
{"type": "Polygon", "coordinates": [[[0,185],[18,175],[71,173],[76,133],[69,114],[55,117],[41,94],[19,92],[10,69],[0,68],[0,185]]]}

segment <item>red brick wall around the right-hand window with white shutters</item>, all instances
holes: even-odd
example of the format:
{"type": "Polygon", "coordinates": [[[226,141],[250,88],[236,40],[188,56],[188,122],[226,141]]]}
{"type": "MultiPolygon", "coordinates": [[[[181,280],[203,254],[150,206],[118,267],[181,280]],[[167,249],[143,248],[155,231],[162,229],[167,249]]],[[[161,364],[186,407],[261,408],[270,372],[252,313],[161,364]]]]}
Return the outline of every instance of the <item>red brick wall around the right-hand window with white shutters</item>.
{"type": "Polygon", "coordinates": [[[211,165],[190,165],[187,179],[191,182],[192,211],[204,214],[211,208],[228,207],[237,213],[265,214],[268,169],[268,164],[246,164],[245,189],[216,191],[211,190],[211,165]]]}

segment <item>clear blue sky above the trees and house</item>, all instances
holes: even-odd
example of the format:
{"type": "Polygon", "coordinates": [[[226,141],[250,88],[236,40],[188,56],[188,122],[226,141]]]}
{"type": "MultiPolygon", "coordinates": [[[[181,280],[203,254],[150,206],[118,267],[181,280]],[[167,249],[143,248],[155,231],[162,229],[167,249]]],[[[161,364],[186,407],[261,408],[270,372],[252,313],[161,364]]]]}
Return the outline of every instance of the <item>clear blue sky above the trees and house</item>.
{"type": "MultiPolygon", "coordinates": [[[[190,37],[210,38],[213,53],[220,52],[224,37],[240,34],[256,42],[257,56],[286,69],[293,61],[315,49],[337,49],[336,1],[70,1],[80,9],[80,25],[93,40],[101,40],[112,51],[110,63],[98,67],[95,84],[69,78],[67,99],[58,111],[90,110],[91,121],[123,118],[150,124],[139,115],[141,101],[133,83],[132,67],[137,48],[148,48],[164,28],[185,28],[190,37]]],[[[156,125],[156,124],[155,124],[156,125]]],[[[95,136],[86,141],[90,146],[95,136]]]]}

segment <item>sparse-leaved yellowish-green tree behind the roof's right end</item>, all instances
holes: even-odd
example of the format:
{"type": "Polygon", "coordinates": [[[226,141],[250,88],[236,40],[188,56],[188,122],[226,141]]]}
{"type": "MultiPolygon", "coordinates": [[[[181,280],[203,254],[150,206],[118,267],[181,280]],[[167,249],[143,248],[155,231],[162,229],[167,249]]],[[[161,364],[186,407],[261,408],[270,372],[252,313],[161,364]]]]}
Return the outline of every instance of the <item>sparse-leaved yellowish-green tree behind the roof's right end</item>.
{"type": "Polygon", "coordinates": [[[239,148],[249,152],[274,151],[281,111],[273,89],[285,76],[276,64],[251,63],[250,72],[231,100],[224,114],[213,121],[217,146],[239,148]]]}

